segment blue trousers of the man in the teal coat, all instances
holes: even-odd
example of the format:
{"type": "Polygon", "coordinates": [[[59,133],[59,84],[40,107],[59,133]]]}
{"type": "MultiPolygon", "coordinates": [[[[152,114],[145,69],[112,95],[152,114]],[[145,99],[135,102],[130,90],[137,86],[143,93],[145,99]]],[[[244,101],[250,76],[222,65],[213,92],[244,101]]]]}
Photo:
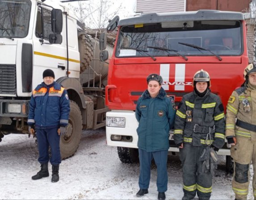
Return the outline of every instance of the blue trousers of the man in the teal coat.
{"type": "Polygon", "coordinates": [[[168,150],[160,150],[154,152],[147,152],[142,149],[138,149],[139,153],[139,179],[138,185],[140,189],[148,189],[150,182],[150,168],[152,158],[155,160],[157,167],[157,191],[166,192],[168,184],[168,175],[167,175],[167,158],[168,150]]]}

